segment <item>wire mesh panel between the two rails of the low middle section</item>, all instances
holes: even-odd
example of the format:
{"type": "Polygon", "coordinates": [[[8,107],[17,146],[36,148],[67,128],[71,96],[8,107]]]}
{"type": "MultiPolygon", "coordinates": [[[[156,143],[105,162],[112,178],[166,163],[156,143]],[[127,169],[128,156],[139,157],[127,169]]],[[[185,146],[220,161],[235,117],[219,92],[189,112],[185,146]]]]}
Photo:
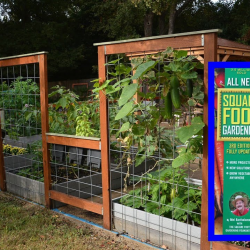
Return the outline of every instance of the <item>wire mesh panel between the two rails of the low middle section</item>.
{"type": "Polygon", "coordinates": [[[102,203],[99,150],[52,144],[50,152],[53,190],[102,203]]]}

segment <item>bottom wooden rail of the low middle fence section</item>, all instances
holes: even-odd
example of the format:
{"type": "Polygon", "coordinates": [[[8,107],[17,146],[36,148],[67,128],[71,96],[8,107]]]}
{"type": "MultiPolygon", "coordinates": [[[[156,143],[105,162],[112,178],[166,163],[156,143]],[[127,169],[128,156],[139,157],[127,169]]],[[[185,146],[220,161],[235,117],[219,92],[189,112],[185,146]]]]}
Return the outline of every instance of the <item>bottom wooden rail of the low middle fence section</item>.
{"type": "Polygon", "coordinates": [[[101,214],[101,215],[103,214],[102,212],[103,206],[100,203],[95,203],[92,201],[84,200],[84,199],[77,198],[75,196],[67,195],[67,194],[57,192],[54,190],[49,191],[49,196],[50,196],[50,199],[66,203],[74,207],[86,209],[96,214],[101,214]]]}

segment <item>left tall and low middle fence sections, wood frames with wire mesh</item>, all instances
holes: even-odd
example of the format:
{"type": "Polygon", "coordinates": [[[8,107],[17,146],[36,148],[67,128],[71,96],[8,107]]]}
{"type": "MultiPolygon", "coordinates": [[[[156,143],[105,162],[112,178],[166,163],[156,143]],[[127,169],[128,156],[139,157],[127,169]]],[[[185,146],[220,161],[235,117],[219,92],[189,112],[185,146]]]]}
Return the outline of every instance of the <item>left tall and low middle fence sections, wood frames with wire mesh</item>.
{"type": "MultiPolygon", "coordinates": [[[[105,118],[101,119],[102,140],[49,133],[49,112],[58,114],[65,110],[48,104],[47,54],[1,58],[0,70],[1,108],[5,114],[5,118],[1,117],[1,125],[2,131],[7,133],[2,138],[4,148],[0,144],[1,190],[48,208],[64,203],[101,214],[104,227],[110,229],[105,118]],[[25,84],[29,87],[24,88],[25,84]],[[13,156],[15,150],[18,155],[13,156]],[[102,157],[91,154],[91,150],[101,150],[102,157]],[[82,169],[83,156],[88,158],[88,169],[82,169]],[[94,202],[95,197],[101,202],[94,202]]],[[[100,114],[106,117],[102,105],[100,114]]]]}

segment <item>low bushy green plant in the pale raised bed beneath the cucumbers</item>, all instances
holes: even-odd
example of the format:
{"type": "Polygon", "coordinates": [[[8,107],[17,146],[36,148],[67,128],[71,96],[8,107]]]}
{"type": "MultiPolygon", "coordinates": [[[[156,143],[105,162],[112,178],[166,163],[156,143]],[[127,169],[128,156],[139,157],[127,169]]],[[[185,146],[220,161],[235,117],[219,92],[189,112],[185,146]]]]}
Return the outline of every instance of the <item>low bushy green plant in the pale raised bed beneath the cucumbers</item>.
{"type": "Polygon", "coordinates": [[[130,191],[120,202],[149,213],[200,225],[201,188],[188,185],[185,178],[184,169],[173,171],[171,166],[163,166],[141,178],[142,187],[130,191]]]}

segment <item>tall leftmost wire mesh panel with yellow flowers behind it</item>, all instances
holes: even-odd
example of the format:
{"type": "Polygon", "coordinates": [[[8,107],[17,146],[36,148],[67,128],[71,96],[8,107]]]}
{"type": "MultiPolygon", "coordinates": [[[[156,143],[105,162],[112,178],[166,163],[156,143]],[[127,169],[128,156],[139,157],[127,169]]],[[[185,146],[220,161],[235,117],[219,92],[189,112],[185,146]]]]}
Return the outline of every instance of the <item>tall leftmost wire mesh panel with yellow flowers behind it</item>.
{"type": "Polygon", "coordinates": [[[7,190],[44,203],[39,79],[38,63],[0,68],[7,190]]]}

